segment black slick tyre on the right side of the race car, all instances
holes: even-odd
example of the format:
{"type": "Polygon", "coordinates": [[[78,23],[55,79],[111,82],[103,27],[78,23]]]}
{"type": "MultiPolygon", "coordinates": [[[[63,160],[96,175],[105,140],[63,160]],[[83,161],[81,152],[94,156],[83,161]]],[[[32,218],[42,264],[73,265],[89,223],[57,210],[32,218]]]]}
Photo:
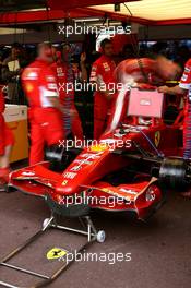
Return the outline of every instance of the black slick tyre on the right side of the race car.
{"type": "Polygon", "coordinates": [[[183,191],[188,188],[188,165],[182,158],[165,158],[159,169],[159,182],[165,188],[183,191]]]}

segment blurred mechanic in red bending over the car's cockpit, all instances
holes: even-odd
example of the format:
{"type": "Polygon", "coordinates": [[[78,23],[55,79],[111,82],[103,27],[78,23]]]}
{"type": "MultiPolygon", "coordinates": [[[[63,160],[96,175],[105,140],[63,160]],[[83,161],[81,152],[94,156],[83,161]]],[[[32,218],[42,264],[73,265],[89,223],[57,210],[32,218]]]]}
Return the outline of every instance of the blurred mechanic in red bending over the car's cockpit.
{"type": "Polygon", "coordinates": [[[115,95],[106,132],[115,130],[120,122],[126,120],[131,87],[154,88],[164,80],[174,79],[177,73],[180,73],[180,68],[163,56],[158,56],[155,60],[140,58],[128,59],[119,63],[115,70],[115,79],[117,83],[122,84],[122,88],[115,95]]]}

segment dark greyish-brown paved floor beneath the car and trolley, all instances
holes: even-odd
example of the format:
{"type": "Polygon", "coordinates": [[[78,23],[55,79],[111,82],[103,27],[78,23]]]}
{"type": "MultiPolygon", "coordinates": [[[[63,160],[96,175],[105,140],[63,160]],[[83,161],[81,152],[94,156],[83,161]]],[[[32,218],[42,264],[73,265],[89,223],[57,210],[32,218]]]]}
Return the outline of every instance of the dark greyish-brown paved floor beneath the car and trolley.
{"type": "MultiPolygon", "coordinates": [[[[23,243],[40,227],[49,216],[46,204],[40,199],[20,192],[0,194],[0,256],[4,256],[23,243]]],[[[106,254],[131,253],[130,262],[94,261],[75,263],[49,287],[61,288],[189,288],[191,287],[191,201],[169,192],[167,203],[148,223],[141,223],[127,216],[96,213],[95,225],[107,233],[106,241],[95,242],[88,252],[106,254]]],[[[75,220],[71,220],[75,225],[75,220]]],[[[46,266],[43,249],[77,245],[85,239],[81,236],[50,231],[25,256],[26,266],[39,273],[46,266]],[[58,239],[59,237],[59,239],[58,239]]],[[[58,262],[51,262],[58,265],[58,262]]],[[[22,275],[23,276],[23,275],[22,275]]],[[[0,268],[0,278],[26,287],[21,274],[0,268]]],[[[32,279],[29,279],[32,280],[32,279]]]]}

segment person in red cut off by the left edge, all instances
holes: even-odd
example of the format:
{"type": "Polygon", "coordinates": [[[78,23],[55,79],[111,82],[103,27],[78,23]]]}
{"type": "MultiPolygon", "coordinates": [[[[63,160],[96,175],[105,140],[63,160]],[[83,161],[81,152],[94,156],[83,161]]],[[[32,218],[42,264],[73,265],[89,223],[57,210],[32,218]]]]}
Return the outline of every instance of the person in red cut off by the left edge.
{"type": "Polygon", "coordinates": [[[3,111],[4,97],[0,88],[0,191],[5,190],[5,183],[8,182],[10,172],[9,159],[14,144],[13,133],[4,122],[3,111]]]}

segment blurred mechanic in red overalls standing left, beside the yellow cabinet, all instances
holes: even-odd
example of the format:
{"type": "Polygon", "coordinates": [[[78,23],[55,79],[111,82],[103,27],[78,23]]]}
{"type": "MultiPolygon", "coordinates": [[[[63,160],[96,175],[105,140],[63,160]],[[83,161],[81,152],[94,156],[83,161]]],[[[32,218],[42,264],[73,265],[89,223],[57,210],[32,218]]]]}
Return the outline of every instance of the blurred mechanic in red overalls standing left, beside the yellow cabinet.
{"type": "Polygon", "coordinates": [[[44,160],[44,146],[64,140],[63,107],[59,100],[57,80],[50,64],[53,61],[51,44],[38,46],[38,58],[25,68],[22,84],[29,103],[31,153],[29,164],[44,160]]]}

